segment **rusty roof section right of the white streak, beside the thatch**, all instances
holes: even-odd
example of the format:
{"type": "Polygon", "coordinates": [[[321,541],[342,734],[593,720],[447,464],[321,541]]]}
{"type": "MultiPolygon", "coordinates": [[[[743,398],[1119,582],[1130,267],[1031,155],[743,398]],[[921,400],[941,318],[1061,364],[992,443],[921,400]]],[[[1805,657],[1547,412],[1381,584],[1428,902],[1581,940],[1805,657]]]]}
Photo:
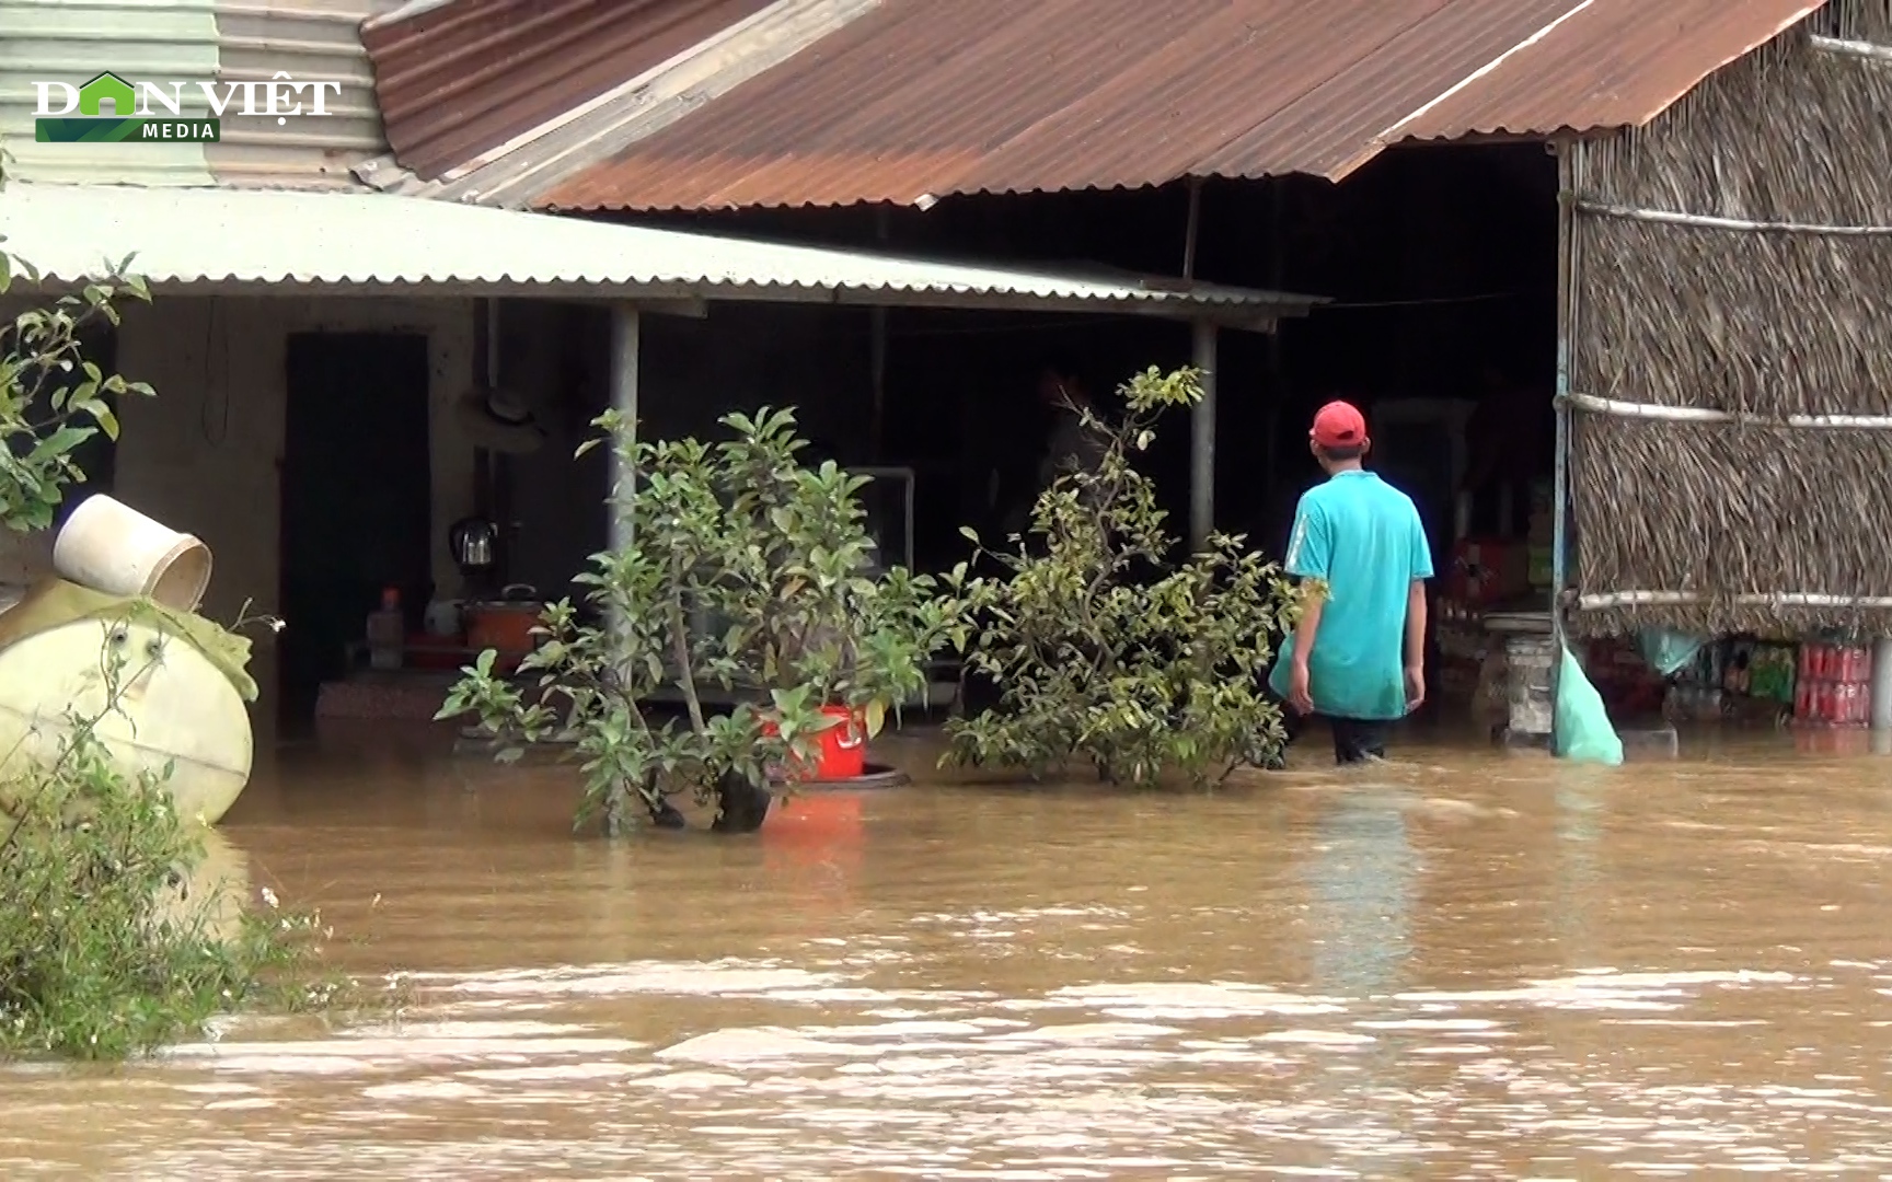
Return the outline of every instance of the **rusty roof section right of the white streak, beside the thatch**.
{"type": "Polygon", "coordinates": [[[1402,125],[1404,138],[1642,127],[1826,0],[1591,0],[1402,125]]]}

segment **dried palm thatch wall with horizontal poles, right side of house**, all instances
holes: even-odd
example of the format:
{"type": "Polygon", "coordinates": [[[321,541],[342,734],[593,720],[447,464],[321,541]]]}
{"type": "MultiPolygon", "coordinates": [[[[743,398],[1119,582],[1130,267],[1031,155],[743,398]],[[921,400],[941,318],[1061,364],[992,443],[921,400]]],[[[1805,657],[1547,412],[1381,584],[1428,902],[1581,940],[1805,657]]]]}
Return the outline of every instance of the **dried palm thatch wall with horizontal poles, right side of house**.
{"type": "MultiPolygon", "coordinates": [[[[1892,43],[1892,0],[1837,0],[1650,127],[1578,148],[1572,390],[1761,420],[1892,416],[1892,235],[1620,214],[1892,227],[1892,62],[1809,32],[1892,43]]],[[[1884,607],[1735,600],[1892,598],[1892,431],[1584,410],[1572,431],[1578,586],[1703,596],[1584,611],[1580,632],[1892,635],[1884,607]]]]}

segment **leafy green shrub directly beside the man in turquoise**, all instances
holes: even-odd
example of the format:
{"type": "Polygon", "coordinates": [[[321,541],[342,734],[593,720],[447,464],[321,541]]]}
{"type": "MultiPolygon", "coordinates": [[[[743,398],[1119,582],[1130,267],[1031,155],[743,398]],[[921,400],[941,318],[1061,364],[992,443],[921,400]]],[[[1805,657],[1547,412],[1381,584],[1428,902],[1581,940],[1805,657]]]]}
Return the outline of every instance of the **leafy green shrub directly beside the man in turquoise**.
{"type": "Polygon", "coordinates": [[[1122,393],[1118,426],[1084,414],[1107,444],[1099,465],[1061,475],[1029,535],[986,552],[1003,573],[948,579],[965,666],[1001,698],[948,721],[944,762],[1039,777],[1080,758],[1111,781],[1207,783],[1283,745],[1262,685],[1294,592],[1241,537],[1175,562],[1156,488],[1131,463],[1164,408],[1201,397],[1200,378],[1150,369],[1122,393]]]}

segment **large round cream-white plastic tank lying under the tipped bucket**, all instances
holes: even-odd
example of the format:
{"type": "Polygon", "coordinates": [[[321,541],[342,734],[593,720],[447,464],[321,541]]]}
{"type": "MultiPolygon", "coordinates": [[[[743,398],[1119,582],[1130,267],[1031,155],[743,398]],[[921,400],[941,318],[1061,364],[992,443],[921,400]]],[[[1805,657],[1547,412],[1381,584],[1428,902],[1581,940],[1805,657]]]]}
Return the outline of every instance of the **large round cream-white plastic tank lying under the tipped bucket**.
{"type": "Polygon", "coordinates": [[[250,711],[231,679],[182,635],[146,622],[79,618],[0,649],[0,777],[17,781],[59,758],[72,719],[96,736],[123,775],[163,772],[178,811],[216,825],[250,783],[250,711]],[[102,652],[123,664],[117,709],[102,652]]]}

